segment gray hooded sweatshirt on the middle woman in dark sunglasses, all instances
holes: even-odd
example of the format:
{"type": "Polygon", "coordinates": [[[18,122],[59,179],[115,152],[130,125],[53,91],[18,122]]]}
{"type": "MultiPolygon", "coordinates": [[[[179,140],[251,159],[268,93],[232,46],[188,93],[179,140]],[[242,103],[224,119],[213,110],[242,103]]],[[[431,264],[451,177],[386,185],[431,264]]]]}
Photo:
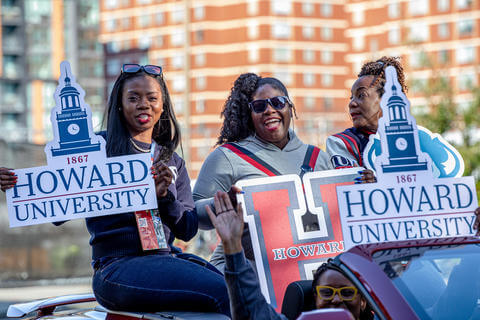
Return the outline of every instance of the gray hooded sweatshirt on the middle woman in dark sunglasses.
{"type": "MultiPolygon", "coordinates": [[[[287,145],[280,149],[272,143],[259,140],[256,136],[249,136],[238,145],[255,154],[258,158],[268,163],[282,175],[301,173],[301,166],[308,149],[293,130],[289,130],[290,140],[287,145]]],[[[320,151],[314,171],[333,169],[328,155],[320,151]]],[[[209,230],[213,226],[208,218],[205,205],[213,207],[213,195],[218,190],[228,191],[232,185],[243,179],[264,178],[267,175],[255,168],[247,161],[227,148],[218,147],[207,157],[200,169],[197,182],[193,188],[193,199],[197,209],[200,229],[209,230]]],[[[250,243],[248,228],[242,239],[243,243],[250,243]]],[[[245,246],[247,257],[249,248],[245,246]]],[[[211,262],[223,272],[225,259],[223,248],[219,245],[212,255],[211,262]]]]}

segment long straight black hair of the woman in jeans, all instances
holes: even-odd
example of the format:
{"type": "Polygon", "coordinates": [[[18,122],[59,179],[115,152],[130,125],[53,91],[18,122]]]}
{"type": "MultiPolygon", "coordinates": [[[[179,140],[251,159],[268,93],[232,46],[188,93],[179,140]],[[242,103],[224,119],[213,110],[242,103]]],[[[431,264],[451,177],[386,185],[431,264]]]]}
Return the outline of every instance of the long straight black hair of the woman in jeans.
{"type": "Polygon", "coordinates": [[[155,76],[143,71],[137,73],[121,73],[108,99],[107,109],[107,156],[128,154],[130,150],[130,133],[128,132],[122,112],[122,92],[125,82],[136,77],[152,77],[157,80],[162,91],[163,112],[160,120],[153,127],[152,139],[160,146],[160,160],[168,161],[181,141],[180,126],[173,111],[167,84],[163,75],[155,76]]]}

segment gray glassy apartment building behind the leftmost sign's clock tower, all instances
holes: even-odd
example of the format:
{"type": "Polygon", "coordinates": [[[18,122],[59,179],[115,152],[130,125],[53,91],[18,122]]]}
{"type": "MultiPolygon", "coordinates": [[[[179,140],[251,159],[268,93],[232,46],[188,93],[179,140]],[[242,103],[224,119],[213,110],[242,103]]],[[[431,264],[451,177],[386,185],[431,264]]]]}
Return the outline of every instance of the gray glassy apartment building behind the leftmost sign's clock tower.
{"type": "Polygon", "coordinates": [[[6,142],[44,144],[53,137],[50,111],[68,60],[86,91],[94,123],[104,108],[98,1],[1,0],[0,126],[6,142]]]}

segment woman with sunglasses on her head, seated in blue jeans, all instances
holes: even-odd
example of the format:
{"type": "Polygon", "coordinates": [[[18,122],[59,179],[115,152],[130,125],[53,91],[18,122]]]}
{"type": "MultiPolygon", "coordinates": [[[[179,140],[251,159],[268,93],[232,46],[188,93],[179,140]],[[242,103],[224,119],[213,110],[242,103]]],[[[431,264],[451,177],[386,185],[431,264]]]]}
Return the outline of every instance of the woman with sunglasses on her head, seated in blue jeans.
{"type": "MultiPolygon", "coordinates": [[[[111,310],[179,309],[229,315],[223,276],[206,261],[182,254],[172,245],[175,237],[193,238],[198,217],[185,162],[174,152],[180,131],[161,67],[123,65],[107,112],[107,130],[100,134],[108,157],[152,154],[158,211],[148,216],[156,232],[142,229],[139,212],[86,219],[97,301],[111,310]],[[152,248],[152,243],[162,240],[164,248],[152,248]]],[[[8,183],[2,173],[5,190],[8,183]]]]}

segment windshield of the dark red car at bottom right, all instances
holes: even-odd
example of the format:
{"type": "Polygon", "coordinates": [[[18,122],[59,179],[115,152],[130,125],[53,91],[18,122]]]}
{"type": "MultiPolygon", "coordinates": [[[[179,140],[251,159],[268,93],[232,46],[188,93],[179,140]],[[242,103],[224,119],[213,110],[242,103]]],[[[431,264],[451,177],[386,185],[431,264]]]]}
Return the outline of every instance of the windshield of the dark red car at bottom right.
{"type": "Polygon", "coordinates": [[[373,258],[420,319],[480,319],[480,244],[381,250],[373,258]]]}

